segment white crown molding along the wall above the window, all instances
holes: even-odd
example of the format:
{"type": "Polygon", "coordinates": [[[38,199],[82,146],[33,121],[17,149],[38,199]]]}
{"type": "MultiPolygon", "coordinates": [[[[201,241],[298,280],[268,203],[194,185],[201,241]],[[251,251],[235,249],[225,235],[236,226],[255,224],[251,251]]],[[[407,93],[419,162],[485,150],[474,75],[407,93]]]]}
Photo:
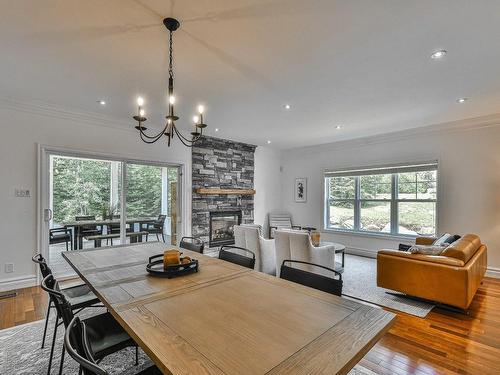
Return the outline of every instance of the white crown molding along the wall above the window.
{"type": "Polygon", "coordinates": [[[440,124],[427,125],[418,128],[405,129],[395,132],[376,134],[366,137],[347,139],[343,141],[323,143],[319,145],[296,147],[283,150],[284,152],[300,151],[304,154],[314,154],[324,152],[335,148],[342,150],[353,147],[362,147],[373,144],[388,143],[399,140],[406,140],[411,137],[422,137],[427,135],[436,135],[442,133],[473,131],[485,128],[500,126],[500,113],[486,116],[468,118],[457,121],[444,122],[440,124]]]}

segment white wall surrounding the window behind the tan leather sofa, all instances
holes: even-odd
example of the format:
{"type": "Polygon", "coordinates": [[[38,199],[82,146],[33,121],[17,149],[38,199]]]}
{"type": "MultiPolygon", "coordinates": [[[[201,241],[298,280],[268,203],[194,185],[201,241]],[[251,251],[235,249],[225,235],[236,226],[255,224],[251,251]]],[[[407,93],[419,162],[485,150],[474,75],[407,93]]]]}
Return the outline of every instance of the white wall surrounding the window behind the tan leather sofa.
{"type": "MultiPolygon", "coordinates": [[[[472,121],[472,120],[471,120],[472,121]]],[[[500,120],[379,136],[283,154],[282,201],[299,225],[322,228],[325,169],[439,160],[438,230],[477,233],[488,246],[490,272],[500,272],[500,120]],[[296,177],[308,178],[307,203],[295,203],[296,177]]],[[[449,124],[453,125],[453,124],[449,124]]],[[[323,233],[352,252],[374,255],[400,239],[323,233]]]]}

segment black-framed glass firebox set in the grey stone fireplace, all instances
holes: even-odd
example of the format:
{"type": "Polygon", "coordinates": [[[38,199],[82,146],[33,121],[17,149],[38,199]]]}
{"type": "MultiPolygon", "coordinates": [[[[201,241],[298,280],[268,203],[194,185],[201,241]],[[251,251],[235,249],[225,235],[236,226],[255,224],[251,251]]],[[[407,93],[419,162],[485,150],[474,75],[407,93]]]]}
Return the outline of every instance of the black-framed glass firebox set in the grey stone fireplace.
{"type": "Polygon", "coordinates": [[[241,211],[210,212],[209,246],[234,244],[234,226],[241,224],[241,211]]]}

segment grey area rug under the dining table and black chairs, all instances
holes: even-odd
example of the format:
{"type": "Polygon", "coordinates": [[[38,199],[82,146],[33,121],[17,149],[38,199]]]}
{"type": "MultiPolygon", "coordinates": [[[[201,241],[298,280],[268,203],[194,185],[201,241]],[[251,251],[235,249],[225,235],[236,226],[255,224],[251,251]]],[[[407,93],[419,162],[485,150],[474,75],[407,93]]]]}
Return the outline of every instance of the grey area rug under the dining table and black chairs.
{"type": "MultiPolygon", "coordinates": [[[[95,312],[95,310],[94,310],[95,312]]],[[[24,324],[18,327],[0,331],[0,374],[9,375],[43,375],[47,373],[49,363],[50,344],[52,342],[53,321],[49,323],[47,341],[44,349],[40,349],[44,321],[24,324]]],[[[59,327],[57,335],[54,361],[51,374],[59,373],[61,348],[64,329],[59,327]]],[[[139,349],[139,365],[135,366],[135,349],[124,349],[106,357],[101,365],[112,375],[133,375],[152,365],[146,354],[139,349]]],[[[77,375],[76,362],[65,356],[64,375],[77,375]]],[[[349,375],[373,375],[370,370],[356,366],[349,375]]]]}

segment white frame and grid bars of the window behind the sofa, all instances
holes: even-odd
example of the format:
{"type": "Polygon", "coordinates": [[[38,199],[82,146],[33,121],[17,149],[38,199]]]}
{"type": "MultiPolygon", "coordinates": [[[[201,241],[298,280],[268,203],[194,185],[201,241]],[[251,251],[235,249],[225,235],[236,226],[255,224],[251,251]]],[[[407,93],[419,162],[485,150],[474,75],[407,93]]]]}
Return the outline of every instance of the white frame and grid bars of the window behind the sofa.
{"type": "MultiPolygon", "coordinates": [[[[375,236],[375,237],[392,237],[392,238],[415,238],[418,236],[436,236],[437,233],[439,233],[438,229],[438,213],[439,213],[439,163],[438,161],[432,161],[432,162],[423,162],[423,163],[406,163],[404,164],[405,167],[411,168],[413,172],[421,172],[421,171],[428,171],[428,170],[433,170],[436,171],[436,196],[435,199],[401,199],[399,198],[398,194],[398,183],[399,183],[399,174],[400,173],[405,173],[408,171],[404,170],[403,171],[398,171],[399,168],[401,168],[401,165],[388,165],[388,166],[381,166],[381,167],[367,167],[367,168],[353,168],[353,169],[347,169],[347,170],[340,170],[340,171],[325,171],[323,175],[323,186],[324,186],[324,197],[323,197],[323,214],[322,214],[322,220],[323,220],[323,230],[325,232],[332,232],[332,233],[338,233],[338,234],[353,234],[353,235],[359,235],[359,236],[375,236]],[[429,165],[431,167],[429,167],[429,165]],[[419,166],[422,166],[422,169],[419,169],[419,166]],[[366,199],[366,198],[361,198],[361,183],[360,183],[360,177],[362,175],[370,175],[370,173],[366,173],[366,171],[373,170],[375,173],[373,174],[390,174],[391,175],[391,198],[390,199],[366,199]],[[384,173],[383,171],[386,170],[387,173],[384,173]],[[349,174],[352,171],[352,174],[349,174]],[[365,171],[364,173],[359,173],[359,171],[365,171]],[[356,173],[358,172],[358,173],[356,173]],[[331,199],[329,195],[329,178],[335,177],[336,173],[340,173],[339,176],[345,176],[345,177],[352,177],[354,178],[355,181],[355,196],[352,199],[331,199]],[[361,223],[361,203],[362,202],[390,202],[390,232],[376,232],[376,231],[368,231],[368,230],[362,230],[360,228],[360,223],[361,223]],[[331,202],[352,202],[354,206],[354,212],[353,212],[353,217],[354,217],[354,226],[353,229],[345,229],[345,228],[334,228],[329,226],[330,222],[330,203],[331,202]],[[399,233],[399,204],[400,203],[434,203],[435,204],[435,215],[434,215],[434,233],[433,234],[428,234],[428,235],[421,235],[421,234],[404,234],[404,233],[399,233]]],[[[418,181],[416,181],[416,184],[418,184],[418,181]]],[[[418,197],[418,191],[417,195],[418,197]]]]}

